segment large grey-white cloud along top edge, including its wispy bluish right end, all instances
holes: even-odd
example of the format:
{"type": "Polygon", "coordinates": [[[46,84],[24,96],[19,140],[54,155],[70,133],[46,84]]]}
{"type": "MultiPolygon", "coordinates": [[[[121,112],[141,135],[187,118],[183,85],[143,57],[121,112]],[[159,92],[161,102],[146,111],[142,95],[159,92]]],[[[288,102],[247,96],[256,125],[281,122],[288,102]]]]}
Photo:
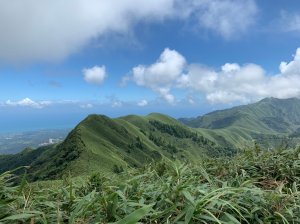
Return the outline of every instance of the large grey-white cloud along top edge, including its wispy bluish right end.
{"type": "Polygon", "coordinates": [[[132,33],[139,22],[190,20],[226,39],[256,18],[254,0],[0,1],[0,59],[59,61],[107,34],[132,33]]]}

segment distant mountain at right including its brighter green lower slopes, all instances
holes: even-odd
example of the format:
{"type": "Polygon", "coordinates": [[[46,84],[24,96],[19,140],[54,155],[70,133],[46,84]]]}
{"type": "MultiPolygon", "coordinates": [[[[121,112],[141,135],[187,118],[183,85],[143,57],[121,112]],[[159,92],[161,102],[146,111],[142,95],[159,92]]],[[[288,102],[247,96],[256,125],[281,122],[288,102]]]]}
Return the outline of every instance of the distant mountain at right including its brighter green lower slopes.
{"type": "Polygon", "coordinates": [[[265,147],[276,147],[289,139],[295,146],[299,141],[300,100],[266,98],[254,104],[179,120],[203,134],[223,136],[238,148],[251,145],[253,140],[265,147]]]}

